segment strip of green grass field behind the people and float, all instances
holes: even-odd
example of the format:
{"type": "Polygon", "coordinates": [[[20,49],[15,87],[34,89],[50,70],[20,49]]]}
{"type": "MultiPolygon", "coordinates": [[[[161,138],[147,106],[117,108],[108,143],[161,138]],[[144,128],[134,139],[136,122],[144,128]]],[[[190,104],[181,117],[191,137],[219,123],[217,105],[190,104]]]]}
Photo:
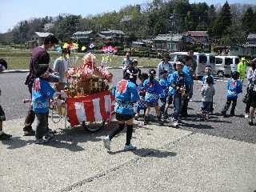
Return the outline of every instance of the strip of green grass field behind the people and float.
{"type": "MultiPolygon", "coordinates": [[[[50,65],[54,65],[54,60],[60,56],[58,52],[50,53],[50,65]]],[[[80,66],[82,64],[82,53],[71,53],[70,63],[74,65],[75,57],[78,58],[76,65],[80,66]]],[[[96,54],[97,63],[102,61],[102,54],[96,54]]],[[[30,50],[11,50],[11,49],[0,49],[0,58],[6,59],[8,62],[9,70],[26,70],[29,69],[30,63],[30,50]]],[[[113,55],[110,56],[108,63],[109,66],[122,66],[122,59],[124,57],[113,55]]],[[[138,66],[149,66],[156,67],[160,60],[158,58],[136,58],[138,60],[138,66]]]]}

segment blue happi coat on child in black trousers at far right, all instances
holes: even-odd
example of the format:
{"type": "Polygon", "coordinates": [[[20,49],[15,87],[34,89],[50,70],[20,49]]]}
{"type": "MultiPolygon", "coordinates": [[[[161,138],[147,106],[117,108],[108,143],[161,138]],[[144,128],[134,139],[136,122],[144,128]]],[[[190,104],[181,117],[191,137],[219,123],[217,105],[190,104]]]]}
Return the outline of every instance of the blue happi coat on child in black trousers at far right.
{"type": "Polygon", "coordinates": [[[227,83],[227,98],[238,98],[238,94],[242,93],[242,83],[240,80],[230,79],[227,83]]]}

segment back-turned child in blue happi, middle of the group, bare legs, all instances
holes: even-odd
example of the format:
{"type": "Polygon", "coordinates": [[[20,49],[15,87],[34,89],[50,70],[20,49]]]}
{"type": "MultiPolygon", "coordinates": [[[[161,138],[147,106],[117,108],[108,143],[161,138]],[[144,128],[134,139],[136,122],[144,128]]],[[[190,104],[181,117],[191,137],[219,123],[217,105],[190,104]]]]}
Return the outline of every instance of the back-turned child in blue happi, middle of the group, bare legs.
{"type": "Polygon", "coordinates": [[[146,89],[145,94],[145,102],[146,102],[146,113],[144,122],[145,124],[149,122],[149,115],[150,115],[150,108],[154,107],[154,110],[158,117],[158,122],[162,125],[161,121],[161,114],[158,106],[159,95],[162,94],[162,87],[160,86],[159,82],[155,80],[156,71],[154,69],[149,70],[149,77],[148,79],[143,82],[143,86],[146,89]]]}

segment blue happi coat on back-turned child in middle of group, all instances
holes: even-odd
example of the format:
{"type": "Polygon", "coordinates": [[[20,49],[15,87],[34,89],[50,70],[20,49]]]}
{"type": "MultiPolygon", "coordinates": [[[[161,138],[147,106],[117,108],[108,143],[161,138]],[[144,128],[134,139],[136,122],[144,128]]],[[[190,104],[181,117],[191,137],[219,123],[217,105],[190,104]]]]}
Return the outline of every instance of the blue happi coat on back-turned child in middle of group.
{"type": "Polygon", "coordinates": [[[145,102],[157,103],[159,100],[159,95],[162,94],[162,87],[159,82],[153,79],[153,83],[150,82],[150,78],[143,82],[143,86],[146,89],[145,102]]]}

